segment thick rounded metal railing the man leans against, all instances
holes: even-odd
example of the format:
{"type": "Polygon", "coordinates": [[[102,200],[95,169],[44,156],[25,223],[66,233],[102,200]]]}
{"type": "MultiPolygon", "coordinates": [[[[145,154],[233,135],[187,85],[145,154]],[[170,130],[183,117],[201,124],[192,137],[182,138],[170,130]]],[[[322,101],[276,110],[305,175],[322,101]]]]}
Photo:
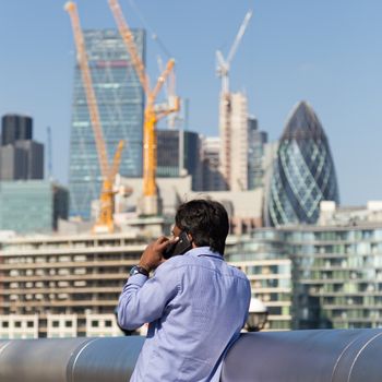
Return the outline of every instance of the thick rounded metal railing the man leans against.
{"type": "MultiPolygon", "coordinates": [[[[144,338],[0,341],[1,382],[127,382],[144,338]]],[[[382,330],[248,333],[222,382],[380,382],[382,330]]]]}

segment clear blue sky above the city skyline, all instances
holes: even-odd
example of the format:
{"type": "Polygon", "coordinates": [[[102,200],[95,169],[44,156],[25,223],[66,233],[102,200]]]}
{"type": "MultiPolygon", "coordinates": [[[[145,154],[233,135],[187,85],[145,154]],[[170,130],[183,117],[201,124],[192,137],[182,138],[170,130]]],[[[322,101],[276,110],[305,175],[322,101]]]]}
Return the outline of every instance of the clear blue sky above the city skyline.
{"type": "MultiPolygon", "coordinates": [[[[79,0],[83,28],[114,27],[107,0],[79,0]]],[[[343,204],[382,200],[382,1],[120,0],[132,27],[155,32],[177,61],[190,129],[217,135],[215,50],[226,55],[249,8],[231,64],[232,91],[276,140],[293,106],[308,100],[329,136],[343,204]],[[139,7],[140,13],[136,12],[139,7]]],[[[35,138],[52,129],[53,175],[68,181],[74,45],[61,0],[1,1],[0,115],[27,114],[35,138]]],[[[157,55],[147,35],[147,68],[157,55]]],[[[152,80],[152,82],[153,82],[152,80]]]]}

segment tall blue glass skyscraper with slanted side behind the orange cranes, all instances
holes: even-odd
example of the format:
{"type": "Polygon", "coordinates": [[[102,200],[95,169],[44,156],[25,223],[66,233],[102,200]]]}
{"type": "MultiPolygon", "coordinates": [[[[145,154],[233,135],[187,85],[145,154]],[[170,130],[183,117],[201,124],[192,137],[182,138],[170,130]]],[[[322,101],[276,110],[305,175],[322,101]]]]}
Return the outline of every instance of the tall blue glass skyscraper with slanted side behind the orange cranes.
{"type": "MultiPolygon", "coordinates": [[[[109,163],[123,139],[127,144],[119,171],[124,177],[141,177],[144,94],[130,56],[116,29],[83,34],[109,163]]],[[[145,33],[136,29],[133,34],[144,62],[145,33]]],[[[69,169],[71,216],[89,217],[102,180],[81,71],[75,64],[69,169]]]]}

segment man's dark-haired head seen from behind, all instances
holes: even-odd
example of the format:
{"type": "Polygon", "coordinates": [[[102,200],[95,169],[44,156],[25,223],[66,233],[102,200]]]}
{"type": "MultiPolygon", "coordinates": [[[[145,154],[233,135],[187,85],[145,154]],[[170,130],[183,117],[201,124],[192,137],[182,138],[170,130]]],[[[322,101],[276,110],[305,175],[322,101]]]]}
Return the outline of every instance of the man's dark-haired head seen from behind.
{"type": "Polygon", "coordinates": [[[191,235],[195,247],[210,247],[224,254],[229,231],[228,214],[225,207],[214,201],[196,199],[179,206],[175,224],[191,235]]]}

